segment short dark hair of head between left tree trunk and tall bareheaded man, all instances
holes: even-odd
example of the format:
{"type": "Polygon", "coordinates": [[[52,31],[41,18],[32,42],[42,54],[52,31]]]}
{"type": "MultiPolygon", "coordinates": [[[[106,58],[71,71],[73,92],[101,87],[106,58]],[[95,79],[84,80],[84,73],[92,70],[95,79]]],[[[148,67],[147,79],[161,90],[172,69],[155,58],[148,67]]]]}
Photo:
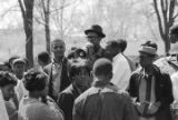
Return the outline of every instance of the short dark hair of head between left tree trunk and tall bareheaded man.
{"type": "Polygon", "coordinates": [[[42,51],[38,54],[38,61],[42,61],[43,63],[49,63],[50,61],[50,56],[47,51],[42,51]]]}

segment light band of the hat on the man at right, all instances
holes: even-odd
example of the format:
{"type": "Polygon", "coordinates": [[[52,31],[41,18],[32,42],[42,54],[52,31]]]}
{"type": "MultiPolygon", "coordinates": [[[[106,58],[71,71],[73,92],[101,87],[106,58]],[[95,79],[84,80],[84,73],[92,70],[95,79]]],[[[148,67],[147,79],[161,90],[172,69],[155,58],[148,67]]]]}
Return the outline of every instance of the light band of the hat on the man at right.
{"type": "Polygon", "coordinates": [[[138,50],[139,52],[148,53],[148,54],[157,54],[157,49],[148,46],[141,46],[138,50]]]}

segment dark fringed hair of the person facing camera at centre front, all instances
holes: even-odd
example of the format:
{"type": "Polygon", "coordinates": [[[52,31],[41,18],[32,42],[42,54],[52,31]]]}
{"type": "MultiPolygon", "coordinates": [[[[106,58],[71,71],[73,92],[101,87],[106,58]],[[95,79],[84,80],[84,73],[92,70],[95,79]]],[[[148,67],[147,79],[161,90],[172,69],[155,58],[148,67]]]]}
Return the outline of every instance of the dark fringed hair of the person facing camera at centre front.
{"type": "Polygon", "coordinates": [[[72,78],[80,74],[83,69],[90,74],[91,68],[87,60],[72,62],[69,69],[69,79],[72,81],[72,78]]]}

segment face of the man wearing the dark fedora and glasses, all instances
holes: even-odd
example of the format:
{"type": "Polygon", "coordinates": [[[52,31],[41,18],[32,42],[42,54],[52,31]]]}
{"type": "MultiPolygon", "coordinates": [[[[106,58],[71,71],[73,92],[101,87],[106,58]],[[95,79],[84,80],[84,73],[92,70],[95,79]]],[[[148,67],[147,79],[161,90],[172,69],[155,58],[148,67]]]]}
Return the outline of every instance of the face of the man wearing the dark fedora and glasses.
{"type": "Polygon", "coordinates": [[[98,33],[96,32],[88,32],[87,34],[87,39],[90,43],[92,43],[93,46],[96,44],[100,44],[101,38],[98,36],[98,33]]]}

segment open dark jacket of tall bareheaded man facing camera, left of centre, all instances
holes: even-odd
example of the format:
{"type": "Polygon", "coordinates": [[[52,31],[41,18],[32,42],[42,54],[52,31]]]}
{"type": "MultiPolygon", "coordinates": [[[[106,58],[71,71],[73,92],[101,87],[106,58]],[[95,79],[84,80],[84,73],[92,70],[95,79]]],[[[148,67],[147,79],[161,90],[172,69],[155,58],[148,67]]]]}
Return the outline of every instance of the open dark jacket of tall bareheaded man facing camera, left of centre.
{"type": "MultiPolygon", "coordinates": [[[[62,71],[61,71],[61,84],[60,84],[60,91],[65,90],[70,83],[71,81],[69,80],[69,61],[67,58],[63,59],[62,61],[62,71]]],[[[44,67],[43,71],[49,74],[49,96],[57,101],[58,97],[56,97],[52,92],[52,83],[53,83],[53,78],[52,78],[52,63],[48,64],[47,67],[44,67]]]]}

